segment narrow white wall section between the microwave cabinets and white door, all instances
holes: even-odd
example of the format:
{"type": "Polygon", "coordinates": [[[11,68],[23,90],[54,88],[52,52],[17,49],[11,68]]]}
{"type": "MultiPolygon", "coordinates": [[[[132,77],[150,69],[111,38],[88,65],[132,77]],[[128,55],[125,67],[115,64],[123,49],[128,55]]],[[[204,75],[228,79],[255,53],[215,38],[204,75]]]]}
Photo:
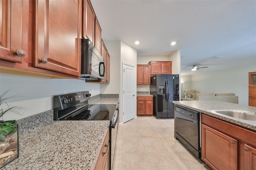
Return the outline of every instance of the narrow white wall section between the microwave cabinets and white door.
{"type": "Polygon", "coordinates": [[[120,93],[120,41],[104,41],[110,55],[110,83],[100,84],[100,94],[119,94],[120,93]]]}

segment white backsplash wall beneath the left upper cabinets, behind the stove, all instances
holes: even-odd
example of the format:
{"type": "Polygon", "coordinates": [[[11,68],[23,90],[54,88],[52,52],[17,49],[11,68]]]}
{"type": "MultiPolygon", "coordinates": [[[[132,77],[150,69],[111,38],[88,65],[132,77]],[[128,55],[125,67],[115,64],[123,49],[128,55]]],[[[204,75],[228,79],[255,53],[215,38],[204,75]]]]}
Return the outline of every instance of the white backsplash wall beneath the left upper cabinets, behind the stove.
{"type": "Polygon", "coordinates": [[[22,115],[8,113],[4,120],[21,119],[52,108],[52,96],[78,91],[89,91],[92,96],[100,94],[100,84],[85,83],[80,79],[46,79],[0,73],[0,94],[9,90],[6,97],[12,106],[22,107],[22,115]]]}

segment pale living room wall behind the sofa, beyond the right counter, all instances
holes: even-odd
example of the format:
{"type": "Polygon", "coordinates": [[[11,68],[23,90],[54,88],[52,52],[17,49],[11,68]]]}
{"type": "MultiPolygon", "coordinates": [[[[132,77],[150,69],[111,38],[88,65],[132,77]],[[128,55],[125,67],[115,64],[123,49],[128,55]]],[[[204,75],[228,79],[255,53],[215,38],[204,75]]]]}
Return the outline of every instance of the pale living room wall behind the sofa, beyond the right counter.
{"type": "Polygon", "coordinates": [[[235,93],[239,104],[248,105],[248,72],[255,70],[256,66],[251,65],[193,75],[191,88],[198,93],[235,93]]]}

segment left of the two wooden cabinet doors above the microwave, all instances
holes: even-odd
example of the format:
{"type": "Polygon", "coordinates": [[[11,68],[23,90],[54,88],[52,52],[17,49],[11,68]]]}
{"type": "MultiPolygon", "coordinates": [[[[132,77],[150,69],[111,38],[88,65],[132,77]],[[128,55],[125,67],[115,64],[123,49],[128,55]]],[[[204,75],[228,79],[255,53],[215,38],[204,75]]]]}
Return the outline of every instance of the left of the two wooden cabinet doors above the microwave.
{"type": "Polygon", "coordinates": [[[90,0],[83,1],[83,38],[88,38],[94,44],[95,14],[90,0]]]}

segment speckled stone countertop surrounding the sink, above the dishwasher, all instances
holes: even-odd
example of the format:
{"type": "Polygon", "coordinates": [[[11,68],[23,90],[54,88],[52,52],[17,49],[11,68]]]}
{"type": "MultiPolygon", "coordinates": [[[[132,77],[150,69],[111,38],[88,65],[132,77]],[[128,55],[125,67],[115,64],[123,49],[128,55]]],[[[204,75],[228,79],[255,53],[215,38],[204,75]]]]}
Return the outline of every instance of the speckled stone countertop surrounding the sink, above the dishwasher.
{"type": "Polygon", "coordinates": [[[173,101],[172,103],[186,107],[188,109],[192,109],[194,111],[204,113],[206,115],[210,115],[212,117],[222,119],[224,121],[228,121],[230,123],[234,123],[236,125],[240,125],[242,127],[250,128],[254,131],[256,130],[256,121],[247,121],[243,119],[229,117],[226,115],[219,115],[219,114],[208,111],[208,110],[235,109],[235,110],[242,110],[242,111],[255,113],[256,107],[239,105],[234,103],[227,103],[222,101],[173,101]]]}

